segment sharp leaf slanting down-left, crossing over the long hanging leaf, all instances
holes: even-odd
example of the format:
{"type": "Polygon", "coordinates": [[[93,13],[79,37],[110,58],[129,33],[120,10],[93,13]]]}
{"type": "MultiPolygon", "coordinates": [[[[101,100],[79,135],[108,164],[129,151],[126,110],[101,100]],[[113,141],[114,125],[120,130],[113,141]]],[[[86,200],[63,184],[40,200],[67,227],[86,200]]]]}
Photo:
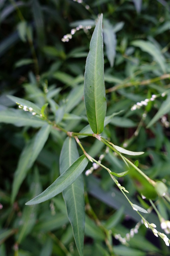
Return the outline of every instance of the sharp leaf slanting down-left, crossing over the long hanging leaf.
{"type": "Polygon", "coordinates": [[[39,196],[31,199],[26,205],[39,204],[44,202],[57,194],[63,192],[68,186],[70,186],[78,176],[84,171],[88,164],[86,156],[80,156],[51,186],[43,191],[39,196]]]}

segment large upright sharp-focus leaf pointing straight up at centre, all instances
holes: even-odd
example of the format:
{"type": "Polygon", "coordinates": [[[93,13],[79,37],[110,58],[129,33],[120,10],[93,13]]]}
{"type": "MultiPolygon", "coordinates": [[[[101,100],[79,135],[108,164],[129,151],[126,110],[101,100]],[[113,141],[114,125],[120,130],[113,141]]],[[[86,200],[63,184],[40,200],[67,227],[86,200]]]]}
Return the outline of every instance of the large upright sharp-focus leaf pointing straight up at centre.
{"type": "Polygon", "coordinates": [[[90,42],[84,73],[84,103],[88,122],[95,134],[104,129],[106,92],[104,85],[104,54],[101,14],[90,42]]]}

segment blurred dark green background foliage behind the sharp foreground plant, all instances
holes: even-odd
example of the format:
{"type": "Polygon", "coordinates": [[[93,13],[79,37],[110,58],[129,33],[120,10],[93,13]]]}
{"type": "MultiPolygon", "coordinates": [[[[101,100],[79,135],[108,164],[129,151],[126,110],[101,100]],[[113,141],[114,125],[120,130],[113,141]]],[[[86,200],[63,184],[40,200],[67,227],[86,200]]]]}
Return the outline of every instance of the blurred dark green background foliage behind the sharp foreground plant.
{"type": "MultiPolygon", "coordinates": [[[[0,110],[17,108],[6,97],[10,94],[38,106],[49,103],[49,118],[66,130],[79,132],[88,124],[82,85],[90,39],[100,13],[104,15],[107,116],[123,110],[106,126],[104,136],[129,150],[144,151],[133,160],[138,159],[150,178],[162,180],[169,188],[170,106],[168,96],[161,95],[170,88],[170,1],[0,0],[0,110]],[[147,106],[136,105],[152,95],[158,97],[147,106]],[[166,111],[146,128],[165,101],[166,111]],[[59,108],[63,104],[66,114],[59,108]],[[134,104],[139,107],[133,110],[134,104]]],[[[21,151],[38,126],[23,127],[17,120],[6,123],[0,124],[0,255],[78,255],[61,194],[37,206],[25,206],[59,176],[59,156],[66,134],[51,132],[11,204],[21,151]]],[[[81,141],[96,159],[106,150],[94,138],[81,141]]],[[[113,172],[125,168],[122,160],[111,153],[103,161],[113,172]]],[[[91,166],[89,163],[88,168],[91,166]]],[[[84,255],[110,255],[104,231],[95,218],[111,230],[115,255],[169,255],[164,241],[144,225],[128,241],[129,246],[115,239],[115,234],[125,237],[140,217],[101,168],[84,176],[84,180],[86,206],[90,203],[94,211],[92,214],[86,209],[84,255]]],[[[141,193],[151,196],[152,191],[139,176],[127,175],[120,182],[133,203],[150,207],[141,193]]],[[[161,197],[153,199],[161,216],[168,220],[170,207],[161,197]]],[[[147,220],[161,230],[154,211],[147,220]]]]}

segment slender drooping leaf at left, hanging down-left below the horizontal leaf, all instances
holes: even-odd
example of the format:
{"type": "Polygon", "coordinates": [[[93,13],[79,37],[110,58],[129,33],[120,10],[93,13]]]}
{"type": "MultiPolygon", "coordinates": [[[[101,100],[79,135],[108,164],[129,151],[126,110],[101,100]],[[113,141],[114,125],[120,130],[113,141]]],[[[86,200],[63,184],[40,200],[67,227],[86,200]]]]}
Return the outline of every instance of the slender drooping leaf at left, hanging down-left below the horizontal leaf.
{"type": "Polygon", "coordinates": [[[31,168],[37,156],[43,149],[43,146],[49,136],[50,130],[50,125],[43,126],[23,149],[14,176],[14,182],[12,186],[12,202],[14,202],[16,198],[18,190],[27,174],[27,171],[29,168],[31,168]]]}

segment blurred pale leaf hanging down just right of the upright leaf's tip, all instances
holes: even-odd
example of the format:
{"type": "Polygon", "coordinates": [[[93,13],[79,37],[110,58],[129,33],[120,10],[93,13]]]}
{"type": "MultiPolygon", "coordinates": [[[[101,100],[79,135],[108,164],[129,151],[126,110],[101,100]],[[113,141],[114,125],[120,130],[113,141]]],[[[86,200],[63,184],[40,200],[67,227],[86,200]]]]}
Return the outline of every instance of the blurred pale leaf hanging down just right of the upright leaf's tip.
{"type": "Polygon", "coordinates": [[[110,66],[113,67],[117,40],[115,32],[113,31],[113,26],[110,24],[109,20],[104,20],[103,36],[104,44],[106,45],[106,55],[110,66]]]}

